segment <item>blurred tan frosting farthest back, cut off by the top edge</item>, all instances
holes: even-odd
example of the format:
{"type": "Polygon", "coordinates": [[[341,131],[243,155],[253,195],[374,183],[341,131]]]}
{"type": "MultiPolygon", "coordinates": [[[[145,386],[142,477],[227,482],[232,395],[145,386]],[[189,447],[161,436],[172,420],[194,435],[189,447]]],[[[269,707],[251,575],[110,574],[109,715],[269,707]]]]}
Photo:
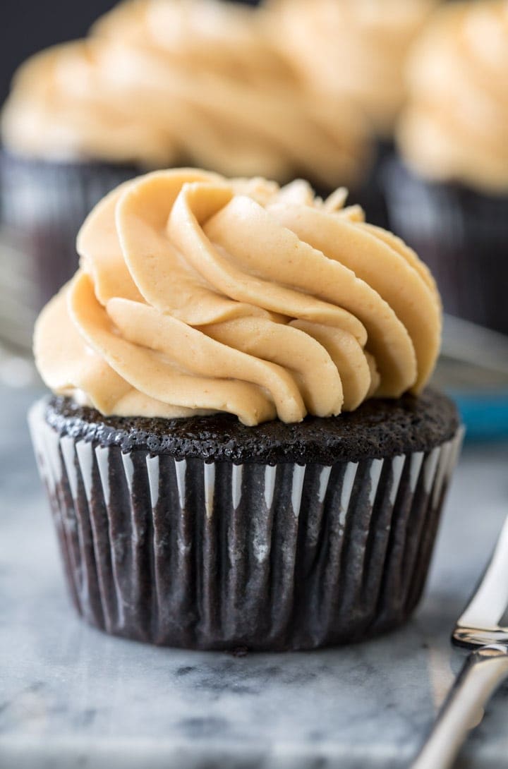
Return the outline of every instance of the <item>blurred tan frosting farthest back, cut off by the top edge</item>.
{"type": "Polygon", "coordinates": [[[379,135],[403,104],[403,66],[437,0],[271,0],[277,35],[317,91],[347,93],[379,135]]]}

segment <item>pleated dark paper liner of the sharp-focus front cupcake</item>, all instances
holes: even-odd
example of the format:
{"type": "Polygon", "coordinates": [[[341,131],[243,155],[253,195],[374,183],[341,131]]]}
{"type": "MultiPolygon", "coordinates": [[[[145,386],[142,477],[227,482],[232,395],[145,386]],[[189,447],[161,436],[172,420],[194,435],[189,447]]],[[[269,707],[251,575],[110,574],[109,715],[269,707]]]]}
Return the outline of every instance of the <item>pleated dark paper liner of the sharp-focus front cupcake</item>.
{"type": "Polygon", "coordinates": [[[427,453],[320,464],[122,453],[29,423],[78,612],[175,647],[366,638],[416,606],[462,432],[427,453]]]}

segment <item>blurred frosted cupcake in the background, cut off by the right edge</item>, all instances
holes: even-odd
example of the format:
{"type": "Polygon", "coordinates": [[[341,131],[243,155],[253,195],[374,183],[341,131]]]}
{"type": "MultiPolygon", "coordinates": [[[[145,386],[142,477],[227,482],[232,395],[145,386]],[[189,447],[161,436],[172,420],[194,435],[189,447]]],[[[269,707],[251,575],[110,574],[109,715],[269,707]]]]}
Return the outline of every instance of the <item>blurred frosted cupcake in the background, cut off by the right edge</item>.
{"type": "Polygon", "coordinates": [[[445,310],[508,333],[508,8],[456,3],[413,52],[390,222],[427,261],[445,310]]]}

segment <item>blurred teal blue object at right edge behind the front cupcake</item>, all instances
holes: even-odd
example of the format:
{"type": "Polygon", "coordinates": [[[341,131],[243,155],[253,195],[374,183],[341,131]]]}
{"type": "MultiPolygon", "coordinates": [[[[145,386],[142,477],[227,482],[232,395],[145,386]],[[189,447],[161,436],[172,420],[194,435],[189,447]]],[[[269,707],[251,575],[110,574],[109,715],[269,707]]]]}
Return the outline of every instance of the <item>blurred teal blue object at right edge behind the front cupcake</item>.
{"type": "Polygon", "coordinates": [[[466,425],[466,441],[508,438],[508,391],[489,394],[448,390],[466,425]]]}

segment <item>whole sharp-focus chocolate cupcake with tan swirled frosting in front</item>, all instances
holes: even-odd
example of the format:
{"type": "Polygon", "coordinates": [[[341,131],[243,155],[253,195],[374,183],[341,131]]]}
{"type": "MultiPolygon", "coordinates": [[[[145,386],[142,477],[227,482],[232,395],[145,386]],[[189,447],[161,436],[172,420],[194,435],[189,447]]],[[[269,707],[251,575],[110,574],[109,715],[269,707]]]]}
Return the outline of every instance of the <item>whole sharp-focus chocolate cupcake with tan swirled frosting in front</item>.
{"type": "Polygon", "coordinates": [[[78,612],[226,650],[407,619],[461,434],[413,251],[342,191],[192,169],[111,192],[78,251],[29,415],[78,612]]]}

